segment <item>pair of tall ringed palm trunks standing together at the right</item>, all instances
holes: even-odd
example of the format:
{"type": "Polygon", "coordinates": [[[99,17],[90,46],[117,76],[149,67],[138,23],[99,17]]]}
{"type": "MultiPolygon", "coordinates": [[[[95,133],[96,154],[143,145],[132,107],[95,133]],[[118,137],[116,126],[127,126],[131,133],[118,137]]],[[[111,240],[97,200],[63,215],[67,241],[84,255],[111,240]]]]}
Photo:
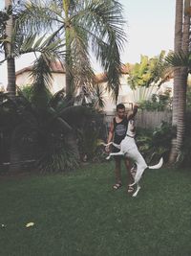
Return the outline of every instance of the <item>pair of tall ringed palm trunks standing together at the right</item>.
{"type": "MultiPolygon", "coordinates": [[[[190,30],[190,1],[176,2],[175,23],[175,49],[174,54],[167,57],[167,61],[175,66],[174,69],[174,97],[173,97],[173,120],[172,125],[177,127],[177,138],[172,140],[172,149],[169,162],[174,163],[180,155],[185,129],[186,86],[188,67],[182,65],[182,57],[188,55],[189,30],[190,30]],[[182,17],[184,14],[184,18],[182,17]],[[180,61],[178,61],[178,58],[180,61]],[[178,64],[179,62],[179,64],[178,64]]],[[[185,59],[185,58],[184,58],[185,59]]],[[[184,62],[184,60],[183,60],[184,62]]]]}

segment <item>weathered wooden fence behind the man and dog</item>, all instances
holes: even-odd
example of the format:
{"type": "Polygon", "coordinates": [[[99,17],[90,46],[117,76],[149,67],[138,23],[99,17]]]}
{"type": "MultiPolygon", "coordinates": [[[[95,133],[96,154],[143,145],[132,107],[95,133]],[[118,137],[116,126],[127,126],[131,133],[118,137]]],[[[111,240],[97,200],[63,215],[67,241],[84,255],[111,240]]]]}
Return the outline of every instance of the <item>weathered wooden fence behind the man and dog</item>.
{"type": "MultiPolygon", "coordinates": [[[[110,123],[113,120],[114,116],[114,113],[105,115],[105,123],[107,125],[107,128],[110,127],[110,123]]],[[[136,126],[138,128],[156,128],[159,127],[162,121],[170,124],[172,120],[172,112],[138,110],[135,120],[136,126]]]]}

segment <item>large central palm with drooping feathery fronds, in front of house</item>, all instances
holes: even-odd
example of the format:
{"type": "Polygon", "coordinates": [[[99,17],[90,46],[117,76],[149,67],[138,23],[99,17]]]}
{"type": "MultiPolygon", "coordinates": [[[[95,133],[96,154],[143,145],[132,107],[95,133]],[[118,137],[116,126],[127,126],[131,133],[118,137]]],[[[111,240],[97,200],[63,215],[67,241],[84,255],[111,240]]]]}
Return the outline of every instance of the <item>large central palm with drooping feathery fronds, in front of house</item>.
{"type": "Polygon", "coordinates": [[[26,5],[19,23],[23,31],[53,32],[65,45],[66,93],[71,99],[78,87],[91,86],[95,75],[90,53],[108,76],[108,87],[117,100],[121,62],[119,51],[125,40],[122,7],[116,0],[33,0],[26,5]]]}

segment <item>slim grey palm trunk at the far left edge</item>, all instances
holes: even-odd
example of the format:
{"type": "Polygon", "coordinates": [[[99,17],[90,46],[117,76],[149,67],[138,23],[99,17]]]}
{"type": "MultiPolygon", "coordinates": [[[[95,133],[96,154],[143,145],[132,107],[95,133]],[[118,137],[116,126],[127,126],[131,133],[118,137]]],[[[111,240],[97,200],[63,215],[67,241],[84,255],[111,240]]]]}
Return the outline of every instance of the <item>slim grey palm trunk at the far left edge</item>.
{"type": "MultiPolygon", "coordinates": [[[[6,10],[10,11],[12,8],[12,1],[11,0],[5,0],[5,8],[6,10]]],[[[8,87],[7,90],[10,94],[10,97],[14,99],[16,94],[16,86],[15,86],[15,63],[14,58],[12,56],[12,43],[11,43],[11,36],[12,36],[12,30],[13,30],[13,18],[12,18],[12,11],[10,11],[10,18],[7,21],[6,25],[6,39],[7,42],[5,44],[5,54],[8,66],[8,87]]]]}

